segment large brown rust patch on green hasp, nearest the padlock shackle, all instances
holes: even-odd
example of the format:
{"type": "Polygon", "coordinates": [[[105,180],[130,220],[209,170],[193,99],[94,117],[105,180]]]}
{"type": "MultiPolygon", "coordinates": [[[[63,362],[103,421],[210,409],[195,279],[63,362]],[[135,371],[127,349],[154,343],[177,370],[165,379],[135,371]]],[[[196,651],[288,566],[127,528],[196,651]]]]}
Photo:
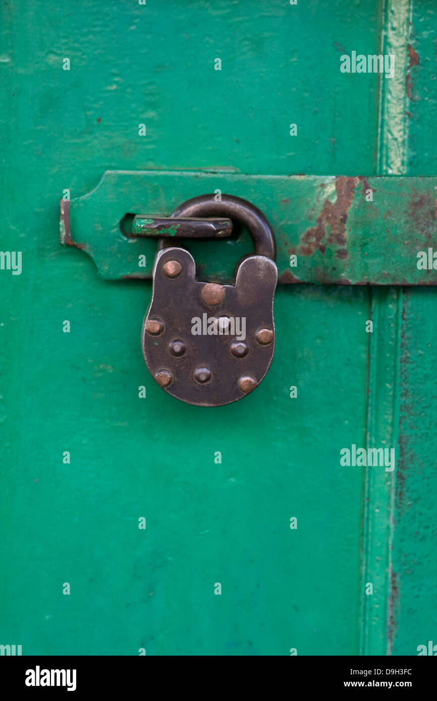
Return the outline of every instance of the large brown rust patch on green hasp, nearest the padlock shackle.
{"type": "Polygon", "coordinates": [[[310,226],[300,238],[299,252],[304,256],[311,256],[315,250],[325,253],[326,245],[337,245],[344,248],[346,245],[346,222],[349,207],[354,200],[354,190],[358,182],[357,177],[340,176],[335,179],[337,199],[331,202],[326,199],[321,213],[316,219],[316,226],[310,226]],[[329,233],[327,238],[327,227],[329,233]],[[322,242],[325,243],[322,243],[322,242]]]}

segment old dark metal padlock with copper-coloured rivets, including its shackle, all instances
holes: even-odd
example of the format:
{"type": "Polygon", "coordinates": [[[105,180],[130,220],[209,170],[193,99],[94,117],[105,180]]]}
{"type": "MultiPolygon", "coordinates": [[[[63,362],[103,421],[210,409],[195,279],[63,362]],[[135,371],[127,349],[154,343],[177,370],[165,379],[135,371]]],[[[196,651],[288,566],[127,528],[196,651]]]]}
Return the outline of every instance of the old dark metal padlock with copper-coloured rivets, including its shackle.
{"type": "Polygon", "coordinates": [[[205,283],[196,280],[191,254],[161,239],[142,352],[168,394],[188,404],[218,407],[252,392],[271,365],[276,245],[267,218],[238,197],[196,197],[170,218],[187,217],[229,217],[248,229],[255,252],[238,262],[234,285],[205,283]]]}

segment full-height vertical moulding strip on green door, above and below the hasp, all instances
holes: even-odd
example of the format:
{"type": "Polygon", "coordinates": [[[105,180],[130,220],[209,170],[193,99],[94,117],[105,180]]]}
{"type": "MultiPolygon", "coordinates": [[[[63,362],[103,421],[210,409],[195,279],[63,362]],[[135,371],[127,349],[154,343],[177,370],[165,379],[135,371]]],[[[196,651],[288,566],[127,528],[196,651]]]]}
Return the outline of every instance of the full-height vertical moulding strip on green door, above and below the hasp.
{"type": "MultiPolygon", "coordinates": [[[[408,70],[413,0],[382,0],[379,53],[395,57],[391,79],[379,76],[377,174],[404,175],[408,163],[408,70]]],[[[377,203],[377,192],[374,201],[377,203]]],[[[381,245],[384,245],[382,232],[381,245]]],[[[366,448],[398,446],[398,360],[402,288],[369,290],[369,334],[366,448]]],[[[395,458],[396,459],[396,458],[395,458]]],[[[396,465],[396,462],[395,462],[396,465]]],[[[363,504],[363,563],[361,581],[361,655],[390,655],[396,582],[391,566],[396,467],[365,468],[363,504]],[[366,594],[372,584],[373,593],[366,594]]]]}

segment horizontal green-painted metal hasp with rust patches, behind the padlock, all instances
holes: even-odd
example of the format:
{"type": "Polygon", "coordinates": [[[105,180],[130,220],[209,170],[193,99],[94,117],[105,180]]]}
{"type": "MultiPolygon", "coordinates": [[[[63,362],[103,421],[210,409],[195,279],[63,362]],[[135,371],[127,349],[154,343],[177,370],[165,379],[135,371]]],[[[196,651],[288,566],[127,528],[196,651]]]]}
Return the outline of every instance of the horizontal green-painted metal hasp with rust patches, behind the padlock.
{"type": "MultiPolygon", "coordinates": [[[[437,177],[108,170],[90,193],[61,200],[61,243],[86,251],[103,278],[152,278],[156,241],[126,235],[123,219],[147,211],[168,217],[182,200],[206,193],[245,198],[265,213],[280,283],[437,285],[437,177]]],[[[251,250],[244,231],[184,245],[199,278],[220,283],[231,282],[251,250]]]]}

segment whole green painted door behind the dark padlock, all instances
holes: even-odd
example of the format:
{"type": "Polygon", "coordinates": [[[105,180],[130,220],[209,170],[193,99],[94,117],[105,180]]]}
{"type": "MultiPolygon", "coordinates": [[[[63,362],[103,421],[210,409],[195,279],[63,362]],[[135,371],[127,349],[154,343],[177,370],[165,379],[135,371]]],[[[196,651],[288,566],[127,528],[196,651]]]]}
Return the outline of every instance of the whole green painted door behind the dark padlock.
{"type": "MultiPolygon", "coordinates": [[[[436,234],[435,3],[11,0],[0,27],[0,644],[417,655],[437,635],[436,279],[416,264],[436,234]],[[352,52],[394,75],[342,72],[352,52]],[[107,170],[129,173],[93,196],[107,170]],[[121,279],[102,222],[216,189],[264,210],[282,278],[266,379],[203,409],[149,375],[152,285],[121,279]],[[60,246],[61,198],[90,255],[60,246]],[[343,465],[352,446],[394,469],[343,465]]],[[[225,279],[248,246],[193,251],[225,279]]]]}

